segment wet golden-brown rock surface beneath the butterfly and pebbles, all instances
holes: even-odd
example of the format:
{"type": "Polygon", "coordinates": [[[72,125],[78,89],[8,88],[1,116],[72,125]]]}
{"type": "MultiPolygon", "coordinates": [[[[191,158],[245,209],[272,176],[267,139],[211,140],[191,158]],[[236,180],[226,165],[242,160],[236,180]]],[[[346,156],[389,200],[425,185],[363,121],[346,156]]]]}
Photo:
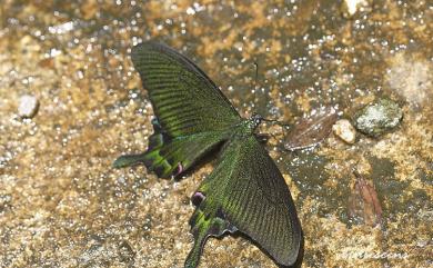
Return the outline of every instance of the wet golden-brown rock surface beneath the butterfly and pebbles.
{"type": "MultiPolygon", "coordinates": [[[[430,267],[432,9],[364,2],[348,19],[331,0],[2,1],[0,267],[182,267],[190,197],[213,163],[180,181],[111,168],[152,132],[129,57],[148,39],[189,56],[242,116],[294,123],[321,107],[351,115],[383,96],[407,102],[399,131],[380,139],[348,146],[331,135],[311,150],[268,149],[302,221],[303,267],[430,267]],[[30,92],[41,106],[23,120],[18,100],[30,92]],[[367,182],[358,191],[354,167],[367,182]],[[364,221],[379,211],[371,189],[380,226],[364,221]]],[[[209,240],[201,267],[275,265],[226,237],[209,240]]]]}

